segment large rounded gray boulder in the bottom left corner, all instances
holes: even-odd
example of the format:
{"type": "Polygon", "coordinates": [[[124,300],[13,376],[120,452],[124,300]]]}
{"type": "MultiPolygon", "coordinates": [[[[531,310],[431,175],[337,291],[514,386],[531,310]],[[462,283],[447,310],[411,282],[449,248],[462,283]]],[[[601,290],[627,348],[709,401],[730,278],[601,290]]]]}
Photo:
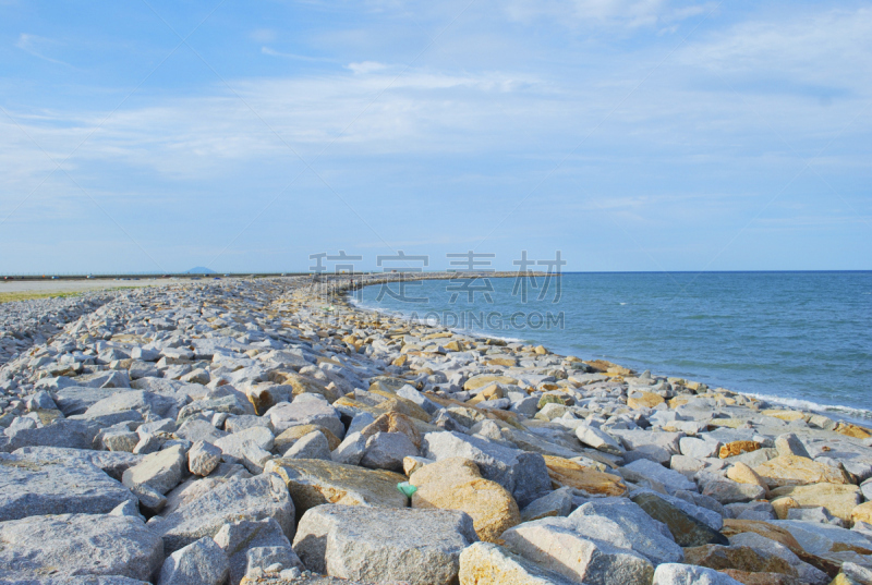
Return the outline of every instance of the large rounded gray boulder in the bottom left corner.
{"type": "Polygon", "coordinates": [[[164,560],[160,537],[138,519],[59,514],[0,523],[0,581],[52,574],[116,575],[150,581],[164,560]]]}

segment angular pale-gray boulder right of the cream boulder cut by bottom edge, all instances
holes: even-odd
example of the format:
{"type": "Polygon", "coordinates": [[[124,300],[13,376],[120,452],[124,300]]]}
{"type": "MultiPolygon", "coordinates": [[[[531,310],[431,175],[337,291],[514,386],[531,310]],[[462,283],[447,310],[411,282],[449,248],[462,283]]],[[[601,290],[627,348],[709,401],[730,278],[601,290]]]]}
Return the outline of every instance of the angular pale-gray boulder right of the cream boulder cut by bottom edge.
{"type": "Polygon", "coordinates": [[[509,528],[506,547],[540,566],[589,585],[651,583],[645,557],[580,534],[569,519],[546,517],[509,528]]]}

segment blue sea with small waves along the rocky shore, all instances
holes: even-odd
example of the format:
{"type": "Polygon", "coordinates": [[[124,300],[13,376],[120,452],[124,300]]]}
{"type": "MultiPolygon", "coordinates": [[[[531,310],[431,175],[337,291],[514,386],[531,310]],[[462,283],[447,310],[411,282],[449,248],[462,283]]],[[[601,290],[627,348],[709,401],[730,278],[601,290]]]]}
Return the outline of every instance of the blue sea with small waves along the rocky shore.
{"type": "MultiPolygon", "coordinates": [[[[553,302],[553,281],[543,301],[530,287],[525,304],[514,279],[489,282],[493,303],[481,292],[473,303],[465,292],[451,303],[451,284],[437,280],[407,285],[407,297],[426,302],[403,302],[376,285],[359,291],[355,303],[872,421],[870,271],[572,272],[561,277],[559,301],[553,302]],[[509,317],[517,313],[533,314],[530,325],[520,316],[514,322],[522,327],[512,327],[509,317]],[[562,314],[562,327],[536,327],[535,314],[546,313],[555,321],[562,314]]],[[[543,289],[542,279],[537,284],[543,289]]],[[[391,290],[397,293],[397,284],[391,290]]]]}

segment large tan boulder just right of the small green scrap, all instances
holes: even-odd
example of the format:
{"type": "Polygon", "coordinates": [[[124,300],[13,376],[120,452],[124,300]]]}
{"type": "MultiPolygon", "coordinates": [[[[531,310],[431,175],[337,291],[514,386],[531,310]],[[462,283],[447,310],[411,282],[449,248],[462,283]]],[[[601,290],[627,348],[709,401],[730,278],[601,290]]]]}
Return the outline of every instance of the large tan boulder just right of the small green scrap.
{"type": "Polygon", "coordinates": [[[518,503],[506,488],[484,479],[474,462],[444,459],[424,465],[409,483],[417,488],[412,508],[461,510],[472,517],[475,534],[486,543],[501,543],[499,535],[521,522],[518,503]]]}

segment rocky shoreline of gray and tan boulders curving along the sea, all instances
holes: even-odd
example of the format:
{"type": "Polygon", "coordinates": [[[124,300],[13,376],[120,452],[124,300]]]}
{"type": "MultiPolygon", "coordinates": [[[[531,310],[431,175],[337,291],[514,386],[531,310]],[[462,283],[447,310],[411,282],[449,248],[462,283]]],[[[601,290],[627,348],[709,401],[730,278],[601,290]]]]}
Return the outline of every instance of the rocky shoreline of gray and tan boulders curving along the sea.
{"type": "Polygon", "coordinates": [[[868,429],[344,302],[386,278],[3,307],[0,583],[872,583],[868,429]]]}

